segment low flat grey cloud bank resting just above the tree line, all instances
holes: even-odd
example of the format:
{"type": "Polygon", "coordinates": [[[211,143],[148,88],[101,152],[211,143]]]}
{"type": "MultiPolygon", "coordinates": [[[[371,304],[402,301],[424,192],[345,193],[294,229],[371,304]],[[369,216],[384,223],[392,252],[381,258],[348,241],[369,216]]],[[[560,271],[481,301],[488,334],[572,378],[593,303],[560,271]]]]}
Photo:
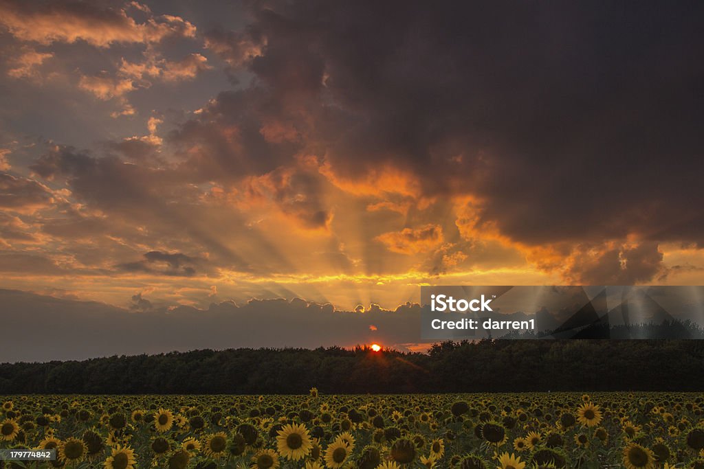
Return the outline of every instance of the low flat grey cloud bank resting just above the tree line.
{"type": "Polygon", "coordinates": [[[211,304],[208,309],[154,307],[137,294],[132,311],[96,302],[58,299],[0,290],[7,330],[31,330],[42,340],[26,347],[27,336],[7,335],[1,361],[85,359],[113,354],[230,347],[317,347],[417,342],[420,307],[366,314],[335,311],[330,304],[303,300],[253,300],[211,304]],[[370,331],[370,325],[377,330],[370,331]],[[79,326],[77,326],[79,325],[79,326]]]}

